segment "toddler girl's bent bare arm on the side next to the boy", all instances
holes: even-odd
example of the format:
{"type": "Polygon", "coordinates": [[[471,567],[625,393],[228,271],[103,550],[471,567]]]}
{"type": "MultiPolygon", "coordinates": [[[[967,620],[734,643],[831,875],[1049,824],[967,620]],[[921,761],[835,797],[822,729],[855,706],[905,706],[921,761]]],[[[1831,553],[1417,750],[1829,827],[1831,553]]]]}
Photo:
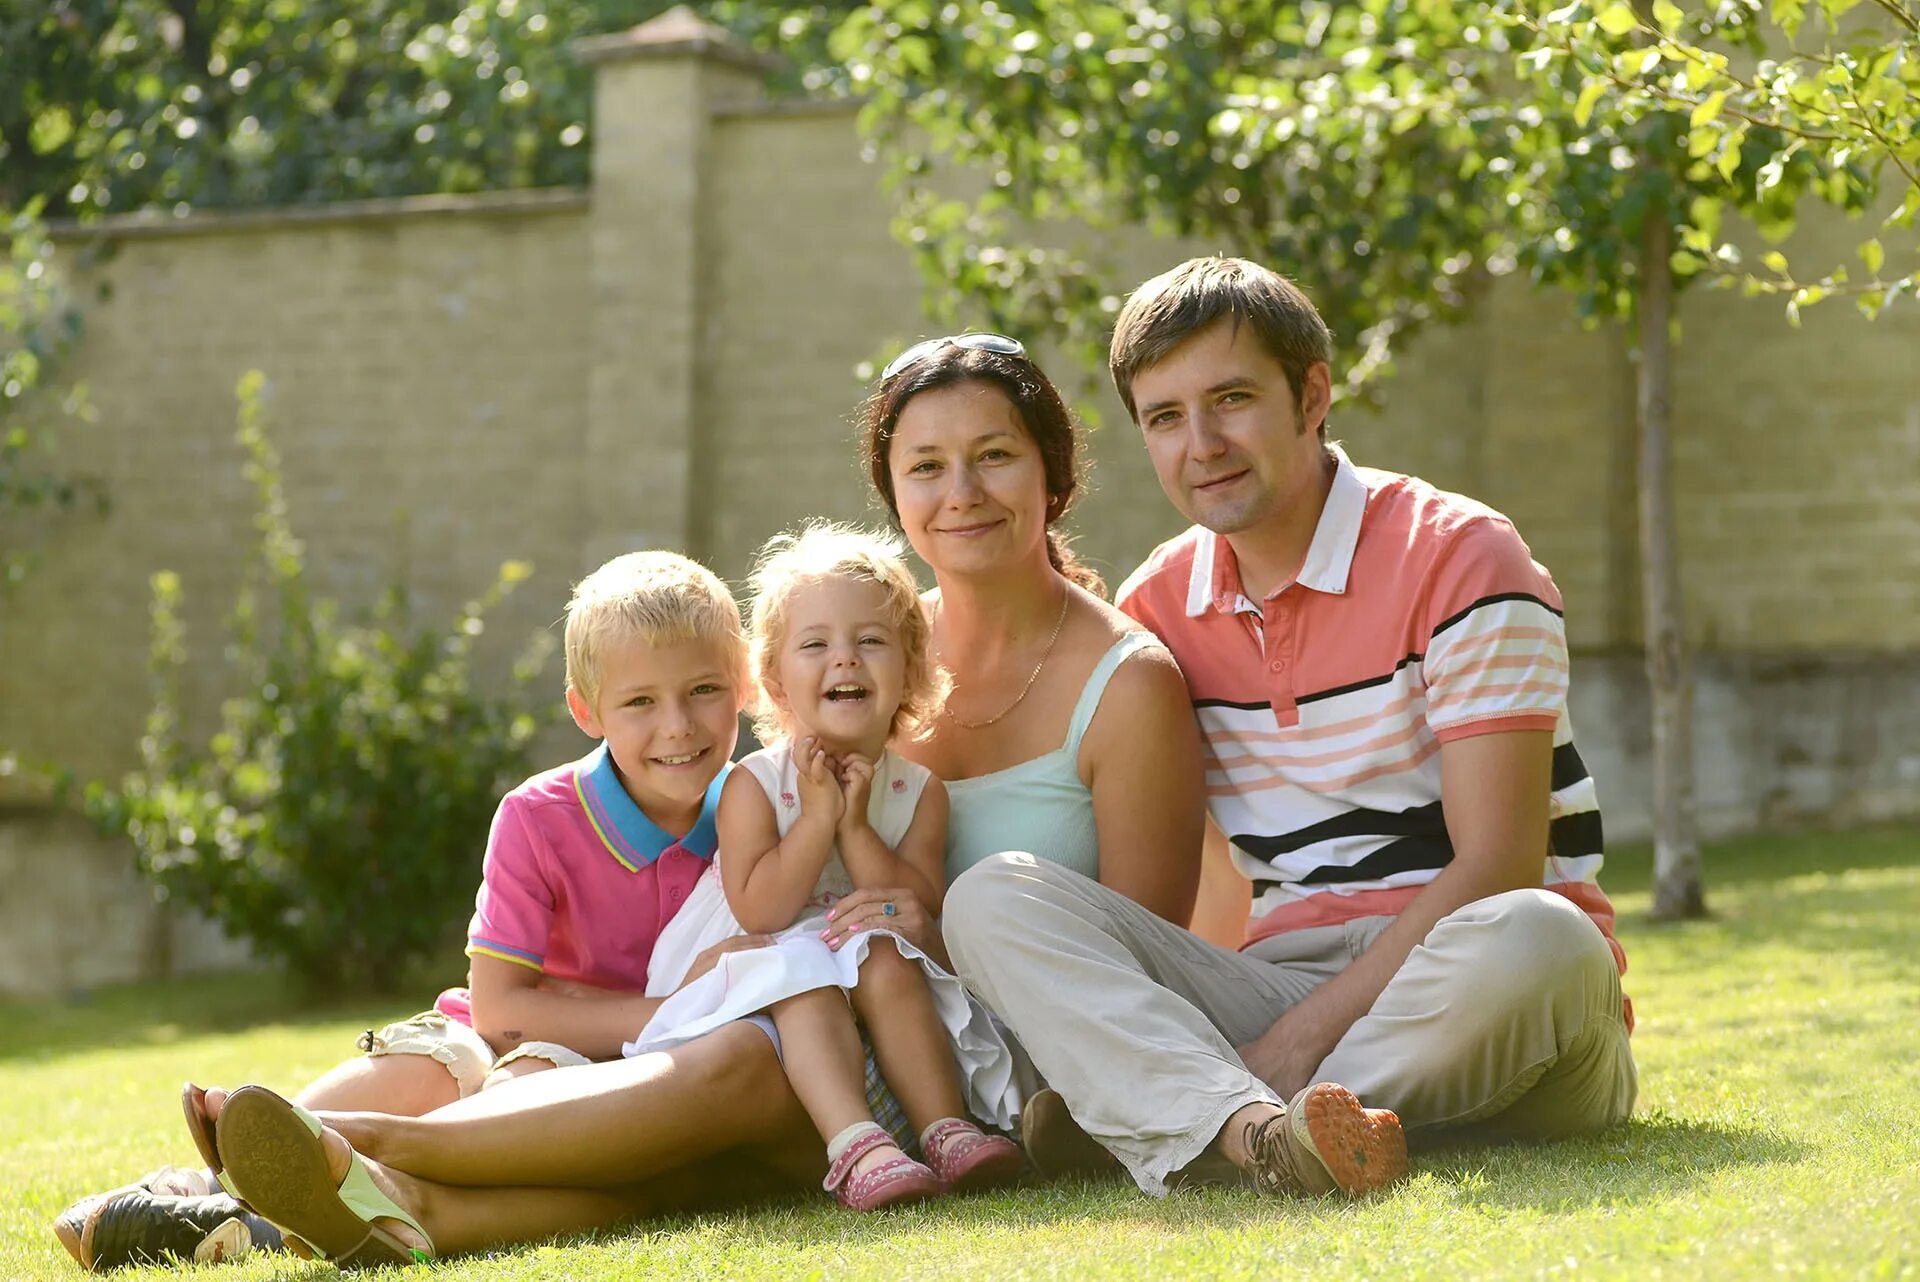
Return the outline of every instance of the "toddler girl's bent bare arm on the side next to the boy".
{"type": "MultiPolygon", "coordinates": [[[[799,756],[801,747],[795,745],[799,756]]],[[[831,800],[839,800],[839,781],[831,781],[831,800]]],[[[774,804],[749,770],[735,770],[720,789],[714,825],[720,835],[720,889],[741,929],[783,931],[814,896],[820,869],[833,854],[833,825],[839,819],[824,804],[818,779],[801,770],[801,818],[780,835],[774,804]]]]}

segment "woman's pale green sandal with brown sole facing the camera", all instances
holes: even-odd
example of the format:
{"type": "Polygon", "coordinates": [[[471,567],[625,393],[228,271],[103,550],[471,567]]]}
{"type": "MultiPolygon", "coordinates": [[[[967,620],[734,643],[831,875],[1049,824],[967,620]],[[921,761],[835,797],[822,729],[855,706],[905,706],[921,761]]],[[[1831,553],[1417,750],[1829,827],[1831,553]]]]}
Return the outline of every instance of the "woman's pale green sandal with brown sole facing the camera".
{"type": "Polygon", "coordinates": [[[326,1169],[321,1119],[265,1086],[227,1096],[215,1123],[223,1182],[252,1211],[342,1269],[411,1265],[434,1257],[432,1238],[372,1180],[359,1153],[338,1184],[326,1169]],[[396,1219],[426,1242],[411,1247],[376,1219],[396,1219]]]}

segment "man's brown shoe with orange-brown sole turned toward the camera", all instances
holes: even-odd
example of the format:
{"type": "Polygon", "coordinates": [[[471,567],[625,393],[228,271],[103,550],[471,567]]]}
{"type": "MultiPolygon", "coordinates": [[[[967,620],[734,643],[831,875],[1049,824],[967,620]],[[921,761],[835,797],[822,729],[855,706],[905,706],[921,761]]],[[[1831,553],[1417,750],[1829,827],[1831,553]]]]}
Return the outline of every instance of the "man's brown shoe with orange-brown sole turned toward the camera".
{"type": "Polygon", "coordinates": [[[1359,1105],[1354,1092],[1315,1082],[1279,1117],[1248,1128],[1254,1184],[1263,1194],[1350,1198],[1386,1188],[1407,1173],[1407,1136],[1388,1109],[1359,1105]]]}

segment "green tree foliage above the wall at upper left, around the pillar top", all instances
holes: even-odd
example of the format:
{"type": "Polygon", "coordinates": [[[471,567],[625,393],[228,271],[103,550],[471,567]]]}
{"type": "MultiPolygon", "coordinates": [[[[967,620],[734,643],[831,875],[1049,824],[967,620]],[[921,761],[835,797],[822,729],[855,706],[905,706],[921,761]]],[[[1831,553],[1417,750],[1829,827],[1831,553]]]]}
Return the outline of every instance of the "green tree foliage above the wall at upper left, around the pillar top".
{"type": "MultiPolygon", "coordinates": [[[[0,12],[0,207],[578,184],[591,77],[568,44],[668,2],[21,0],[0,12]]],[[[818,48],[845,0],[701,8],[831,88],[818,48]]]]}

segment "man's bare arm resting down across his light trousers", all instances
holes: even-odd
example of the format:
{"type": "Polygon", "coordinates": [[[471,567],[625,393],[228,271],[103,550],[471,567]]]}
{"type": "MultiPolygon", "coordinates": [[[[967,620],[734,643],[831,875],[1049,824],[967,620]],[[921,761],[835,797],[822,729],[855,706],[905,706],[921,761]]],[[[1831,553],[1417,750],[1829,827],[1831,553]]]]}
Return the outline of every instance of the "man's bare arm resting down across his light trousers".
{"type": "Polygon", "coordinates": [[[1538,887],[1548,854],[1553,731],[1511,729],[1440,745],[1440,804],[1453,862],[1359,958],[1240,1048],[1246,1067],[1290,1100],[1373,1009],[1427,933],[1475,900],[1538,887]]]}

